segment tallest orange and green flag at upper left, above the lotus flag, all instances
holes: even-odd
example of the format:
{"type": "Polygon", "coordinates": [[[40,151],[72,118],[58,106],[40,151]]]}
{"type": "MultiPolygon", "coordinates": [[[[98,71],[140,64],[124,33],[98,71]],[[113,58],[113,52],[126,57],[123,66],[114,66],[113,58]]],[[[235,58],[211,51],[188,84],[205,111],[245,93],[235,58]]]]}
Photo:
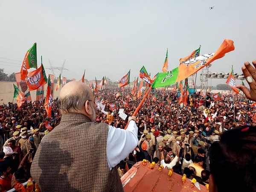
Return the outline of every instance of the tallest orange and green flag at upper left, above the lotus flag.
{"type": "Polygon", "coordinates": [[[20,79],[24,81],[28,74],[28,69],[37,69],[37,55],[36,55],[36,43],[26,52],[21,69],[20,69],[20,79]]]}

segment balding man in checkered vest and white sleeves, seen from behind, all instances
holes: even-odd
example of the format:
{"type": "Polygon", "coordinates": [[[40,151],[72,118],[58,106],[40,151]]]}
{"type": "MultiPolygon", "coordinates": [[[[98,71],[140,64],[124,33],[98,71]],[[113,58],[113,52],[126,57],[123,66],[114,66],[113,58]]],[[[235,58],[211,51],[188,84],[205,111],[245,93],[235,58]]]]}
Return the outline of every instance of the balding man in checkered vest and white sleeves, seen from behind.
{"type": "Polygon", "coordinates": [[[42,140],[31,168],[42,191],[123,191],[116,165],[138,144],[135,117],[126,130],[96,124],[94,101],[82,82],[61,89],[61,122],[42,140]]]}

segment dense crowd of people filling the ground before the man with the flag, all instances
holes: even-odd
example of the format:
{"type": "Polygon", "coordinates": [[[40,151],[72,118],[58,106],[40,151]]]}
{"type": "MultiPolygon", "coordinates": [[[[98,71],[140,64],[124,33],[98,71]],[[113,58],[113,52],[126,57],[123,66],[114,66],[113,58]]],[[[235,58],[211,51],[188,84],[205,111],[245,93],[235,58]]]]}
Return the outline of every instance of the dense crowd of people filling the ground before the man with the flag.
{"type": "MultiPolygon", "coordinates": [[[[106,88],[94,93],[95,105],[101,104],[95,114],[96,124],[125,128],[128,118],[123,120],[119,110],[124,109],[125,114],[132,116],[143,96],[137,98],[131,94],[131,89],[125,88],[121,90],[122,95],[116,98],[118,91],[117,88],[106,88]],[[108,104],[116,104],[115,109],[111,110],[108,104]],[[105,105],[104,109],[100,107],[102,105],[105,105]]],[[[122,177],[134,163],[146,159],[166,169],[173,169],[177,174],[186,174],[190,179],[196,178],[203,185],[208,184],[212,172],[209,159],[211,145],[230,129],[256,124],[253,118],[256,108],[243,94],[224,94],[218,101],[212,95],[207,93],[203,97],[200,92],[193,93],[187,97],[185,106],[178,103],[178,91],[151,90],[134,119],[138,128],[137,146],[117,162],[119,176],[122,177]]],[[[17,104],[11,102],[0,106],[2,191],[31,177],[36,151],[49,133],[45,124],[49,121],[54,130],[61,122],[60,111],[58,98],[53,101],[50,119],[44,109],[44,101],[24,103],[18,110],[17,104]]],[[[68,136],[72,129],[64,131],[63,135],[68,136]]],[[[93,135],[92,132],[90,136],[93,135]]],[[[83,134],[74,137],[83,137],[83,134]]],[[[65,138],[76,140],[74,137],[65,138]]]]}

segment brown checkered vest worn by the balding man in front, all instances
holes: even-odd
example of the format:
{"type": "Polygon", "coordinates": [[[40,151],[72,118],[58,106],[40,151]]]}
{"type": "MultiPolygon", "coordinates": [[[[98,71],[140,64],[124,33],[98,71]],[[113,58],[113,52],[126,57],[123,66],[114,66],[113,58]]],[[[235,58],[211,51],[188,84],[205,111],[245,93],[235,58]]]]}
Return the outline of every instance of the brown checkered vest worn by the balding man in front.
{"type": "Polygon", "coordinates": [[[79,113],[63,114],[38,147],[32,178],[42,192],[122,192],[117,168],[108,167],[107,137],[107,124],[79,113]]]}

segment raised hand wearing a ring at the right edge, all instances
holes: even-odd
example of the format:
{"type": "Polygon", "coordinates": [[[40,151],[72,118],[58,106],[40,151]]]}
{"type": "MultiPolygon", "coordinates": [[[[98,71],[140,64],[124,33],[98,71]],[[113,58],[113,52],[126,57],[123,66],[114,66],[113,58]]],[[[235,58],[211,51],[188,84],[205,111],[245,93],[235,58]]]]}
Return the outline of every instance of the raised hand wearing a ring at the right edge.
{"type": "Polygon", "coordinates": [[[250,89],[244,85],[236,85],[236,87],[239,88],[248,99],[256,102],[256,60],[254,60],[252,63],[254,67],[248,61],[246,61],[242,67],[245,79],[247,79],[248,76],[252,77],[253,79],[253,82],[251,83],[247,81],[250,89]]]}

